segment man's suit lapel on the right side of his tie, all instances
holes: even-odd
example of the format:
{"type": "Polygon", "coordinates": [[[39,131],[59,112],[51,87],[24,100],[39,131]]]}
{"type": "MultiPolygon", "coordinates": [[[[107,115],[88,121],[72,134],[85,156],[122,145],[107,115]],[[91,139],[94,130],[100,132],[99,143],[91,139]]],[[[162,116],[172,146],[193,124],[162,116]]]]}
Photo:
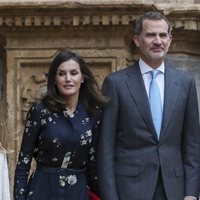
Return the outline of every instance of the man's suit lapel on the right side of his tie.
{"type": "Polygon", "coordinates": [[[160,140],[164,140],[167,136],[167,126],[173,114],[174,107],[176,106],[176,99],[179,89],[178,74],[168,64],[165,64],[165,94],[164,94],[164,109],[163,109],[163,122],[160,140]]]}

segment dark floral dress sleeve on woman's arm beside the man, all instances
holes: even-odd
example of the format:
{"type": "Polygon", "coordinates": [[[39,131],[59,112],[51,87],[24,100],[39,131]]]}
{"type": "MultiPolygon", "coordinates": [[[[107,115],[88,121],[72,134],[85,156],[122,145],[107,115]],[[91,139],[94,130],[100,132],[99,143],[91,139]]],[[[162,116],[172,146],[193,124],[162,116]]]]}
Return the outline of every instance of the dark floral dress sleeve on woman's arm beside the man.
{"type": "Polygon", "coordinates": [[[98,135],[100,129],[100,117],[101,117],[101,110],[98,109],[94,117],[94,128],[93,128],[93,135],[92,135],[92,145],[89,148],[89,158],[87,164],[87,181],[89,188],[98,194],[98,177],[97,177],[97,145],[98,145],[98,135]]]}

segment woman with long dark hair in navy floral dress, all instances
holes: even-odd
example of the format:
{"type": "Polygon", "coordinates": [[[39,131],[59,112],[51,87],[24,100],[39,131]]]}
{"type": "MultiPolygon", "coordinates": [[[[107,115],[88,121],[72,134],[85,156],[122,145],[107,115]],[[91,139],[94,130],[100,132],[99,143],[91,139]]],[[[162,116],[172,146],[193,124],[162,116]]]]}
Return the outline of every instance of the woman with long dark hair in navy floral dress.
{"type": "Polygon", "coordinates": [[[107,102],[85,61],[68,49],[51,63],[47,94],[30,108],[15,171],[15,200],[88,200],[107,102]],[[30,175],[32,158],[36,169],[30,175]]]}

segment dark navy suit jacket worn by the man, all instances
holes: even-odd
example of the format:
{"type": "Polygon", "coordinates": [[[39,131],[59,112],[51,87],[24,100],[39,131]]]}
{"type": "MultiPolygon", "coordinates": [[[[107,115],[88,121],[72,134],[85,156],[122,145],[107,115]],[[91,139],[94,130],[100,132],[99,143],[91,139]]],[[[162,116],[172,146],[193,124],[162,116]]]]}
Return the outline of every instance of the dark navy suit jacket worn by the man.
{"type": "Polygon", "coordinates": [[[160,139],[139,64],[109,75],[98,151],[102,200],[151,200],[159,169],[169,200],[200,192],[200,126],[194,78],[165,63],[160,139]]]}

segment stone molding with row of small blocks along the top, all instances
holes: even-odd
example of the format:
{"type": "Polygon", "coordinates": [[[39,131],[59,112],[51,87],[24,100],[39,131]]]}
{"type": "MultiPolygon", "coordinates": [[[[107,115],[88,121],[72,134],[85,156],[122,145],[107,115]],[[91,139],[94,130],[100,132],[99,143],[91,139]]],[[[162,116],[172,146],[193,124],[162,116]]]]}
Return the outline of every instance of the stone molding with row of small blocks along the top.
{"type": "Polygon", "coordinates": [[[200,30],[200,4],[13,4],[0,3],[0,30],[21,30],[54,27],[124,27],[134,24],[145,11],[160,11],[167,15],[174,29],[200,30]],[[177,7],[176,7],[177,6],[177,7]]]}

